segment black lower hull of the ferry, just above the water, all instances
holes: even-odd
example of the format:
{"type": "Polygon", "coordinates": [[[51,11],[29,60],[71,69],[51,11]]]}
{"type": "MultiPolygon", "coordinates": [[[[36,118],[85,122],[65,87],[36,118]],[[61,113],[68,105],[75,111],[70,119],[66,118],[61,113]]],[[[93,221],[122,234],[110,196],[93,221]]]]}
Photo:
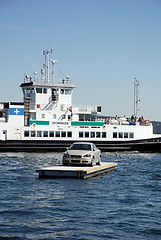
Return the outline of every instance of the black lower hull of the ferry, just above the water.
{"type": "MultiPolygon", "coordinates": [[[[0,141],[0,152],[63,152],[75,141],[7,140],[0,141]]],[[[92,141],[102,152],[161,152],[161,138],[135,141],[92,141]]]]}

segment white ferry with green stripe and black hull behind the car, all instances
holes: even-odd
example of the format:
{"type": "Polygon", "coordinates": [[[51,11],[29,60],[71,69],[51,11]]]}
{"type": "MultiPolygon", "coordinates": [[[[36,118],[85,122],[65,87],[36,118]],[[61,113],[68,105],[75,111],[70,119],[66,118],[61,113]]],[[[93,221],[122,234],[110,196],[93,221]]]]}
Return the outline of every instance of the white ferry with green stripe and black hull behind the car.
{"type": "Polygon", "coordinates": [[[101,118],[101,106],[74,106],[69,77],[53,81],[51,53],[43,51],[39,81],[36,73],[25,76],[23,102],[0,103],[0,151],[64,151],[76,141],[93,142],[101,151],[161,151],[161,134],[153,134],[150,121],[101,118]]]}

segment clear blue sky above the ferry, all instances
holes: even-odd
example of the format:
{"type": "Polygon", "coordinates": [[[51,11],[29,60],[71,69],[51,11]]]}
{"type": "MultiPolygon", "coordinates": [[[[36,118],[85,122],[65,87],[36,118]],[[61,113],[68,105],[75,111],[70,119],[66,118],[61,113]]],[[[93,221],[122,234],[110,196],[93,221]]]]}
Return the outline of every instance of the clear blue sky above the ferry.
{"type": "Polygon", "coordinates": [[[136,78],[138,115],[161,121],[161,0],[0,0],[0,102],[23,101],[50,49],[73,106],[131,116],[136,78]]]}

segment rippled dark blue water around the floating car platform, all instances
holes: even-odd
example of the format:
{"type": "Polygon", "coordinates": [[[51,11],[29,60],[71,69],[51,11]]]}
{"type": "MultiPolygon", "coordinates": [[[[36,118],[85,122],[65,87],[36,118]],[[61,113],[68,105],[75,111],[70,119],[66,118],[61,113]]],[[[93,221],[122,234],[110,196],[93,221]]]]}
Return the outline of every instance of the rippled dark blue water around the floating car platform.
{"type": "Polygon", "coordinates": [[[103,153],[115,171],[39,179],[61,153],[0,153],[0,239],[161,239],[161,154],[103,153]]]}

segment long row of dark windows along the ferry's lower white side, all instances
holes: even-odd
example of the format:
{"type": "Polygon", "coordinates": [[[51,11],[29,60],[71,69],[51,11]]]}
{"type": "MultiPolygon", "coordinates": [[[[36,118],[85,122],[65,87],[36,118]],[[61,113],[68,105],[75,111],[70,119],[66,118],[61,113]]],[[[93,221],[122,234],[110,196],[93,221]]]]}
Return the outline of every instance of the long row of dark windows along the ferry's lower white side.
{"type": "MultiPolygon", "coordinates": [[[[24,131],[25,137],[72,137],[71,131],[24,131]]],[[[106,138],[106,132],[79,132],[80,138],[106,138]]],[[[113,132],[113,138],[134,138],[133,132],[113,132]]]]}

